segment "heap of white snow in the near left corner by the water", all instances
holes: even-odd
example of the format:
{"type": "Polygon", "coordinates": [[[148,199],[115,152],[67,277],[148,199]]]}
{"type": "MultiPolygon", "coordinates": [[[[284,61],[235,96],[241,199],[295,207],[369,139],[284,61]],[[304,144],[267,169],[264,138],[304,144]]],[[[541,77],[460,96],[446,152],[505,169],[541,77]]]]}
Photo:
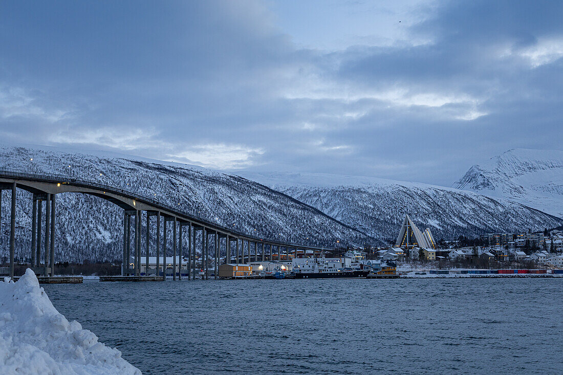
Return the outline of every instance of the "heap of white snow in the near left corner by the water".
{"type": "Polygon", "coordinates": [[[140,374],[121,352],[70,322],[28,269],[0,282],[0,374],[140,374]]]}

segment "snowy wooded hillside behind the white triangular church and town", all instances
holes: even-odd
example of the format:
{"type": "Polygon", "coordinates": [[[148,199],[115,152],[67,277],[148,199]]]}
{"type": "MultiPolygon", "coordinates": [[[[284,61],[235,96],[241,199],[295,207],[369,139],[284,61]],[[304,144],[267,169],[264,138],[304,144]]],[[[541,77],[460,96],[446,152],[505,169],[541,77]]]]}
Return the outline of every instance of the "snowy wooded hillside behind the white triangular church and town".
{"type": "Polygon", "coordinates": [[[449,187],[325,173],[240,172],[282,191],[376,238],[395,239],[405,213],[437,239],[486,232],[539,230],[561,218],[471,191],[449,187]]]}

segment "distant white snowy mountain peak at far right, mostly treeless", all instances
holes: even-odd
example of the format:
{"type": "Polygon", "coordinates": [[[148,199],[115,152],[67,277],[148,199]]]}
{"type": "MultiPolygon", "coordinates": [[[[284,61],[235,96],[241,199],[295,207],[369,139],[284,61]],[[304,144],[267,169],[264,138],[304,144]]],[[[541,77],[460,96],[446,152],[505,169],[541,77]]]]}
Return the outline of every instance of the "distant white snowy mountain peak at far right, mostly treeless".
{"type": "Polygon", "coordinates": [[[563,151],[509,150],[472,166],[454,187],[563,217],[563,151]]]}

